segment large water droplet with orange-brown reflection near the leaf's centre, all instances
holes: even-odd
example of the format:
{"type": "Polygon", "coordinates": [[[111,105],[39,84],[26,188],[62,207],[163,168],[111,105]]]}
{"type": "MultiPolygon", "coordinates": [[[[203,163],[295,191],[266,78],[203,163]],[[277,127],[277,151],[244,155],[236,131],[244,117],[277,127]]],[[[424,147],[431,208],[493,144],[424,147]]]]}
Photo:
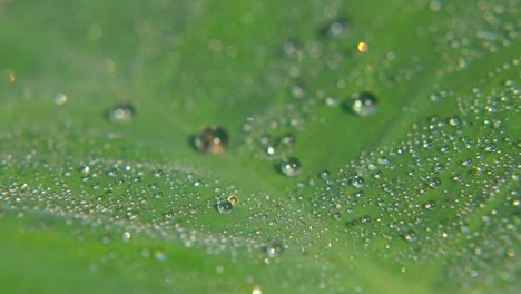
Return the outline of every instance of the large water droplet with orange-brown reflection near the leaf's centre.
{"type": "Polygon", "coordinates": [[[204,154],[223,154],[228,146],[228,133],[218,126],[209,126],[194,137],[194,147],[204,154]]]}

